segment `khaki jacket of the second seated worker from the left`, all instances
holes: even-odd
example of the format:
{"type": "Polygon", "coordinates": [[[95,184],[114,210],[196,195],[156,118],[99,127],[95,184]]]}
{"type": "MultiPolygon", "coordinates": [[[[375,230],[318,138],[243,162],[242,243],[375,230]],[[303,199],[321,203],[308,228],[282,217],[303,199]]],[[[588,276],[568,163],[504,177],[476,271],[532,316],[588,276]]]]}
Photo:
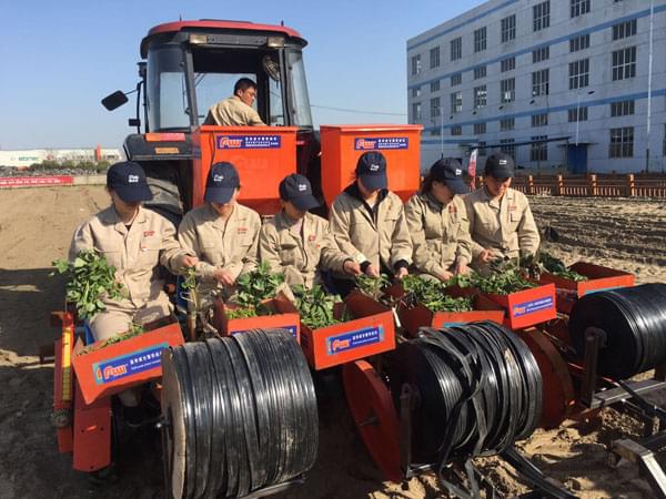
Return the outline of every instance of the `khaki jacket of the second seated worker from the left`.
{"type": "Polygon", "coordinates": [[[210,203],[185,214],[178,238],[183,249],[196,255],[196,275],[208,291],[221,288],[213,273],[218,268],[229,272],[234,279],[252,272],[258,264],[259,214],[235,204],[229,218],[222,220],[210,203]]]}

